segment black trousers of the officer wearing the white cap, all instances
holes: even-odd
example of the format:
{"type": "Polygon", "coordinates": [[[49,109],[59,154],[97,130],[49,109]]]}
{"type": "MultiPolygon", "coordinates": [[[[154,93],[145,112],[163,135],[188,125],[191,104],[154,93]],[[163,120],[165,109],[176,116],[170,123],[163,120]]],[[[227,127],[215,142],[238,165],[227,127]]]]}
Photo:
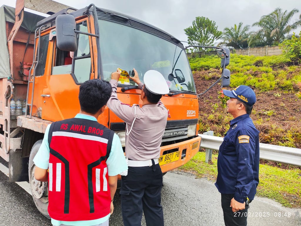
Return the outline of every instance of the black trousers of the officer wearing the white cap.
{"type": "Polygon", "coordinates": [[[121,176],[121,211],[124,226],[141,226],[142,211],[147,226],[164,226],[161,206],[162,171],[154,166],[129,167],[121,176]]]}

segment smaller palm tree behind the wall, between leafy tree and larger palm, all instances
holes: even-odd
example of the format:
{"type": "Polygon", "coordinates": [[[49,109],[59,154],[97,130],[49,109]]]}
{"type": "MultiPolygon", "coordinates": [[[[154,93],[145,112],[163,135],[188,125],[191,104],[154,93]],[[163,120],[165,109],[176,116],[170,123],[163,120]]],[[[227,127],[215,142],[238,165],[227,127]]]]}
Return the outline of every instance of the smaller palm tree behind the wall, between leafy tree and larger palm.
{"type": "Polygon", "coordinates": [[[219,43],[219,45],[226,45],[228,47],[231,46],[234,49],[247,48],[249,29],[250,29],[250,25],[246,25],[243,27],[242,22],[240,22],[238,26],[234,24],[234,27],[231,28],[226,27],[222,34],[223,42],[219,43]]]}

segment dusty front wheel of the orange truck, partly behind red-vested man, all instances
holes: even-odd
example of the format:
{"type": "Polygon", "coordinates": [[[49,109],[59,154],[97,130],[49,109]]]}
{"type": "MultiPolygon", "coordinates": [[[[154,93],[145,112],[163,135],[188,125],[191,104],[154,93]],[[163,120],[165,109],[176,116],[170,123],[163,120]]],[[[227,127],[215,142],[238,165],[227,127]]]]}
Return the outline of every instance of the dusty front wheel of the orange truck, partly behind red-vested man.
{"type": "Polygon", "coordinates": [[[48,182],[37,181],[34,178],[34,170],[36,165],[33,163],[33,158],[39,150],[42,144],[42,140],[37,141],[31,148],[28,163],[28,175],[31,193],[33,195],[33,201],[36,204],[38,210],[48,219],[50,216],[48,214],[48,182]]]}

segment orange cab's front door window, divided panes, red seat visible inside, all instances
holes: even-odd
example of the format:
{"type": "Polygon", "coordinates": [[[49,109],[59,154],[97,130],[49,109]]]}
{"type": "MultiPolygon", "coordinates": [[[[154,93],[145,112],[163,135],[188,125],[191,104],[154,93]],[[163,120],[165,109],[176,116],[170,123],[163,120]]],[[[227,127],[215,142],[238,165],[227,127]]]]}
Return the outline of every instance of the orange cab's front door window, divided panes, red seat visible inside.
{"type": "MultiPolygon", "coordinates": [[[[88,32],[86,22],[77,24],[77,30],[88,32]]],[[[52,75],[73,74],[76,83],[83,83],[90,79],[91,54],[87,35],[77,34],[78,49],[76,52],[62,51],[57,46],[54,50],[54,65],[52,75]],[[74,71],[72,59],[74,58],[74,71]]]]}

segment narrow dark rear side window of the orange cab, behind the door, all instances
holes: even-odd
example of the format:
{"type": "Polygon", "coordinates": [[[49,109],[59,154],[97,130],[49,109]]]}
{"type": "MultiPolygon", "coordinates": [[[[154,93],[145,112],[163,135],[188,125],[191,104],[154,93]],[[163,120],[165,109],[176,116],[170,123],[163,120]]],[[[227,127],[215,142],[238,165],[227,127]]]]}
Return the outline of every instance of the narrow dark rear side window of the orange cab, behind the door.
{"type": "MultiPolygon", "coordinates": [[[[42,36],[39,39],[40,56],[38,59],[38,63],[35,67],[36,76],[41,76],[44,75],[45,73],[48,43],[49,43],[49,35],[42,36]]],[[[36,55],[36,60],[37,58],[38,56],[36,55]]]]}

